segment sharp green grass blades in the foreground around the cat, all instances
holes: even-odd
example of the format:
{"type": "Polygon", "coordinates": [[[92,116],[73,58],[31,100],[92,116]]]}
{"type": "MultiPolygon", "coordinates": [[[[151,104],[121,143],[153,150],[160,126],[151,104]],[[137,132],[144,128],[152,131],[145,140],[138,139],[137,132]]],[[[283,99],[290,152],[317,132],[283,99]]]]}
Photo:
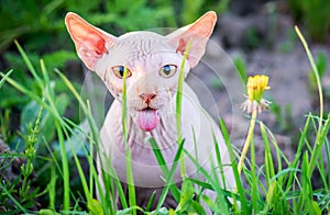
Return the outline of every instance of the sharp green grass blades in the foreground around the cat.
{"type": "MultiPolygon", "coordinates": [[[[301,37],[304,42],[304,37],[301,37]]],[[[329,195],[329,167],[324,163],[330,163],[330,149],[329,149],[329,126],[330,114],[323,113],[323,98],[320,81],[318,79],[317,68],[312,60],[312,56],[308,49],[306,43],[304,43],[308,58],[310,59],[312,70],[315,71],[320,100],[320,113],[315,115],[312,113],[305,116],[305,126],[300,131],[300,137],[297,143],[297,150],[294,160],[289,160],[284,151],[277,144],[277,140],[272,131],[260,121],[256,124],[260,126],[260,133],[264,144],[264,163],[257,166],[255,162],[255,148],[254,138],[252,136],[250,159],[245,159],[245,166],[243,166],[242,174],[238,171],[238,155],[237,149],[231,145],[229,134],[224,126],[224,123],[220,120],[220,127],[223,133],[223,137],[230,152],[234,178],[237,181],[237,192],[230,192],[220,185],[220,181],[223,180],[223,176],[217,177],[217,169],[222,169],[220,149],[217,147],[217,139],[215,139],[217,163],[213,165],[212,172],[207,172],[200,163],[194,158],[195,155],[189,155],[184,146],[184,137],[178,136],[178,150],[175,155],[174,165],[170,169],[167,168],[165,159],[161,150],[157,147],[157,143],[154,139],[148,139],[156,159],[162,167],[164,173],[165,186],[161,194],[157,207],[154,212],[150,212],[148,208],[141,208],[136,206],[134,183],[132,177],[131,152],[128,149],[128,182],[129,182],[129,196],[128,200],[124,196],[123,188],[121,188],[120,181],[114,177],[116,172],[111,174],[102,170],[102,179],[105,181],[105,188],[101,186],[98,179],[98,171],[94,163],[94,155],[99,150],[98,144],[98,128],[94,117],[89,101],[82,100],[74,84],[58,70],[56,70],[57,78],[64,83],[67,89],[67,93],[72,93],[76,102],[79,104],[81,112],[85,115],[86,121],[89,124],[89,129],[84,131],[80,126],[80,122],[74,122],[70,118],[64,116],[59,111],[63,101],[58,101],[58,92],[52,87],[46,67],[41,60],[40,68],[35,68],[29,60],[29,56],[24,53],[21,46],[16,43],[19,50],[22,55],[22,59],[26,65],[31,76],[36,80],[41,93],[36,93],[32,89],[24,87],[19,81],[11,78],[11,73],[15,72],[10,70],[7,73],[1,72],[0,90],[3,84],[10,84],[18,91],[18,94],[24,94],[33,100],[38,105],[38,114],[31,123],[34,126],[30,127],[26,138],[30,143],[21,143],[24,150],[22,154],[2,154],[1,158],[11,158],[13,156],[22,156],[26,159],[26,166],[22,166],[21,176],[24,185],[20,191],[14,185],[19,184],[18,181],[8,181],[1,183],[0,202],[1,206],[6,207],[7,214],[25,214],[37,213],[31,211],[36,197],[47,200],[47,204],[42,205],[43,210],[41,214],[135,214],[139,211],[144,211],[147,214],[188,214],[197,213],[205,214],[201,203],[207,205],[216,214],[327,214],[330,210],[330,195],[329,195]],[[54,129],[56,131],[55,142],[48,142],[44,138],[46,133],[42,133],[41,125],[45,115],[48,114],[54,122],[54,129]],[[86,147],[82,148],[84,157],[86,157],[89,169],[88,173],[82,171],[82,163],[79,159],[77,151],[75,150],[74,135],[78,134],[86,139],[86,147]],[[30,138],[29,138],[30,137],[30,138]],[[41,154],[41,144],[46,146],[47,154],[41,154]],[[58,146],[58,150],[54,150],[54,147],[58,146]],[[326,156],[321,154],[321,150],[326,151],[326,156]],[[35,151],[35,154],[33,152],[35,151]],[[69,152],[70,154],[69,154],[69,152]],[[182,189],[177,188],[173,183],[174,172],[177,168],[183,168],[180,157],[185,155],[191,159],[193,163],[200,169],[198,172],[206,180],[190,179],[184,176],[184,183],[182,189]],[[42,163],[42,165],[38,165],[42,163]],[[35,169],[36,167],[48,167],[46,170],[35,169]],[[77,174],[72,173],[72,169],[77,169],[77,174]],[[48,176],[45,178],[45,185],[34,190],[33,180],[29,178],[31,174],[31,168],[34,169],[36,174],[48,176]],[[41,172],[41,173],[38,173],[41,172]],[[317,176],[317,177],[316,177],[317,176]],[[319,184],[315,188],[311,183],[311,179],[319,179],[319,184]],[[73,189],[72,183],[74,179],[78,180],[77,184],[80,186],[81,192],[76,192],[73,189]],[[242,181],[246,181],[243,183],[242,181]],[[116,188],[118,190],[119,199],[123,205],[122,211],[116,210],[116,188]],[[96,200],[96,189],[99,191],[99,200],[96,200]],[[212,200],[206,195],[204,191],[212,190],[217,193],[217,199],[212,200]],[[165,208],[162,206],[166,194],[170,192],[177,203],[178,208],[165,208]],[[21,194],[20,194],[21,193],[21,194]],[[199,193],[197,199],[194,199],[194,193],[199,193]],[[10,203],[11,202],[11,203],[10,203]]],[[[125,79],[124,79],[125,80],[125,79]]],[[[182,84],[183,77],[179,79],[182,84]]],[[[127,113],[125,113],[125,82],[123,82],[123,115],[122,126],[124,128],[124,139],[127,142],[127,113]]],[[[276,86],[273,87],[273,89],[276,86]]],[[[182,92],[182,89],[178,89],[182,92]]],[[[242,92],[243,93],[243,92],[242,92]]],[[[182,104],[179,93],[177,94],[177,115],[178,121],[180,118],[182,104]]],[[[183,110],[184,111],[184,110],[183,110]]],[[[248,128],[246,128],[248,129],[248,128]]],[[[178,126],[180,131],[180,126],[178,126]]],[[[193,128],[194,131],[194,128],[193,128]]],[[[180,134],[180,133],[178,133],[180,134]]],[[[55,147],[56,148],[56,147],[55,147]]],[[[7,159],[8,160],[8,159],[7,159]]],[[[9,159],[10,162],[12,159],[9,159]]],[[[105,162],[100,160],[101,163],[105,162]]],[[[4,168],[4,163],[0,166],[1,170],[4,168]]],[[[113,171],[113,170],[111,170],[113,171]]],[[[182,169],[183,171],[183,169],[182,169]]],[[[41,177],[40,177],[41,178],[41,177]]],[[[41,178],[44,179],[44,178],[41,178]]],[[[35,179],[37,180],[37,179],[35,179]]],[[[2,181],[2,180],[1,180],[2,181]]],[[[154,195],[152,195],[150,203],[153,202],[154,195]]]]}

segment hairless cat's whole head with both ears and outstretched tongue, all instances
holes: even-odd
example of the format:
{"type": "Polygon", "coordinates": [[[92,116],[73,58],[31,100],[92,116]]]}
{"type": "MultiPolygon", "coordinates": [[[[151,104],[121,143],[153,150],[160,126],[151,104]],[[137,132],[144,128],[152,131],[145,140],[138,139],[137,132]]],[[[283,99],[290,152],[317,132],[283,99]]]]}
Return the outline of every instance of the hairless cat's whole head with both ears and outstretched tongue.
{"type": "Polygon", "coordinates": [[[80,59],[98,73],[119,101],[127,69],[128,111],[140,128],[150,132],[157,126],[162,110],[176,91],[187,45],[190,43],[185,75],[202,57],[216,21],[216,13],[210,11],[165,36],[141,31],[119,37],[72,12],[66,15],[65,24],[80,59]]]}

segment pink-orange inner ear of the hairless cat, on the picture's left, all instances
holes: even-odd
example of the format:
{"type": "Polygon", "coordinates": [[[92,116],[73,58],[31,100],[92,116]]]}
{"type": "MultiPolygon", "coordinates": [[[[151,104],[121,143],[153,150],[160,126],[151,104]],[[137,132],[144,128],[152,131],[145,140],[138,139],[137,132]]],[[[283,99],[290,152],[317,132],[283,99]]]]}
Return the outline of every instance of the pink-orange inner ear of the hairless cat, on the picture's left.
{"type": "Polygon", "coordinates": [[[107,46],[114,44],[117,37],[92,26],[73,12],[65,16],[65,25],[76,45],[78,56],[90,70],[95,70],[99,58],[108,53],[107,46]]]}

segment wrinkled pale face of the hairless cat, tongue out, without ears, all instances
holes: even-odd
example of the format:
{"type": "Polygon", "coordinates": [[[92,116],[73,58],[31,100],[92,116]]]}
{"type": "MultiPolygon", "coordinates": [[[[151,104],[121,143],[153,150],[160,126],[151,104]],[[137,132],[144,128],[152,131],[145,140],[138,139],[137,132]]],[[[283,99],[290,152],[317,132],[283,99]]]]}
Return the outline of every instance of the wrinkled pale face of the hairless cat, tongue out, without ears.
{"type": "MultiPolygon", "coordinates": [[[[140,128],[154,129],[176,91],[183,55],[175,52],[166,37],[151,32],[125,34],[108,50],[97,63],[96,71],[121,101],[127,69],[128,113],[140,128]]],[[[186,64],[184,72],[188,71],[186,64]]]]}

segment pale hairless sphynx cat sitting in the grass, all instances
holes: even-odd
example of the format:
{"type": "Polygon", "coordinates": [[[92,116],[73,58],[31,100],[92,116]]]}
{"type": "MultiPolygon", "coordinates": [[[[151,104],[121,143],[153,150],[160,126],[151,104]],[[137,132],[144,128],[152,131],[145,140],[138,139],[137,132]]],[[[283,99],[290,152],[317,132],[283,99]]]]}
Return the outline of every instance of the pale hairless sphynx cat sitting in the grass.
{"type": "MultiPolygon", "coordinates": [[[[105,163],[110,161],[123,184],[127,182],[127,170],[121,116],[123,76],[127,71],[128,145],[132,150],[136,203],[142,207],[146,206],[154,191],[157,200],[165,184],[148,138],[153,137],[156,140],[170,168],[178,148],[175,109],[184,53],[190,43],[187,63],[183,68],[186,77],[204,56],[216,21],[216,13],[209,11],[193,24],[165,36],[140,31],[117,37],[87,23],[73,12],[66,15],[65,24],[79,58],[89,70],[97,72],[114,97],[100,131],[101,143],[98,156],[101,159],[98,159],[97,166],[100,171],[101,168],[107,169],[105,163]]],[[[185,82],[182,101],[182,135],[185,139],[185,149],[209,172],[211,172],[211,163],[217,163],[213,136],[217,138],[224,166],[226,188],[233,190],[234,177],[221,131],[202,110],[193,89],[185,82]]],[[[196,178],[198,168],[187,156],[184,157],[186,173],[196,178]]],[[[99,179],[102,182],[101,176],[99,179]]],[[[175,172],[174,182],[180,185],[179,167],[175,172]]],[[[155,204],[156,201],[154,206],[155,204]]],[[[177,206],[170,193],[166,196],[164,206],[173,208],[177,206]]]]}

